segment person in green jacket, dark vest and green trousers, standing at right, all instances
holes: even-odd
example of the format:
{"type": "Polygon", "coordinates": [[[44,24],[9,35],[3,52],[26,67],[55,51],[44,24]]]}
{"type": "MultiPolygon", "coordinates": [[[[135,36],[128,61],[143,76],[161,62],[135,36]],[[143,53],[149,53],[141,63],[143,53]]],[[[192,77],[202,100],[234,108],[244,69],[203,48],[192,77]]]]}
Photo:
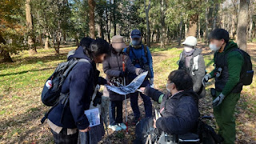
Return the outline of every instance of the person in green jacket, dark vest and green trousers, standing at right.
{"type": "Polygon", "coordinates": [[[214,50],[214,70],[202,79],[203,85],[215,78],[216,95],[213,95],[214,117],[218,124],[218,133],[225,144],[235,141],[234,108],[240,98],[242,82],[240,73],[243,65],[238,45],[230,41],[229,33],[224,29],[215,29],[210,33],[210,50],[214,50]]]}

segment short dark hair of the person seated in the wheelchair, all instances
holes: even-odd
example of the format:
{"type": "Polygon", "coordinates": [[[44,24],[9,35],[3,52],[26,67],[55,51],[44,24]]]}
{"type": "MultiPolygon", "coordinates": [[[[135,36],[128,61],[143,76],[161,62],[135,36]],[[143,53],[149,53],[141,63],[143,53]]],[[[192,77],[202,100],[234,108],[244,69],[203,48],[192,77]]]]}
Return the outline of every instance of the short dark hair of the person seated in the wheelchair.
{"type": "Polygon", "coordinates": [[[190,90],[193,88],[193,80],[185,70],[170,72],[168,79],[170,82],[174,82],[177,90],[190,90]]]}

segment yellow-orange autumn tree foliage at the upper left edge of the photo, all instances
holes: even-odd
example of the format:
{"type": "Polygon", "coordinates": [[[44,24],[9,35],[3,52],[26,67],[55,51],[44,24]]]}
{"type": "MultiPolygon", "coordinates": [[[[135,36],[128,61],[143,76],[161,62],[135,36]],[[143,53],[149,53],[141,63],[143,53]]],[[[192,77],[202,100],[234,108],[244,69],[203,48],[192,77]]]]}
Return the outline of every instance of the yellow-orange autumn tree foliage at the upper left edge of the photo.
{"type": "Polygon", "coordinates": [[[20,50],[27,50],[24,43],[24,2],[0,1],[0,58],[2,62],[13,62],[10,54],[18,54],[20,50]]]}

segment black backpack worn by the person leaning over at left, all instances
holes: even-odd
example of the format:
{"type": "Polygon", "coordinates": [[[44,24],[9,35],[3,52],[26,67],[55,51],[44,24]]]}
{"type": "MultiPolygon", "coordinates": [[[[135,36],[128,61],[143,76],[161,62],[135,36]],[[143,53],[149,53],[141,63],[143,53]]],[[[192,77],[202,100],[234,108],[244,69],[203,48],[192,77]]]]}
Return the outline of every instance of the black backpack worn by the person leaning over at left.
{"type": "MultiPolygon", "coordinates": [[[[87,59],[72,58],[67,62],[60,63],[57,66],[57,68],[54,70],[54,74],[52,74],[50,78],[46,80],[46,82],[48,80],[52,81],[52,87],[48,89],[48,87],[44,85],[42,89],[41,99],[42,99],[42,103],[45,104],[46,106],[52,106],[50,110],[53,110],[54,106],[57,106],[62,99],[69,96],[69,94],[61,94],[62,85],[66,77],[72,70],[72,68],[78,62],[90,63],[87,59]],[[60,98],[61,95],[64,95],[64,97],[62,96],[62,98],[60,98]]],[[[45,117],[42,118],[42,121],[41,121],[42,123],[46,120],[50,110],[45,114],[45,117]]]]}

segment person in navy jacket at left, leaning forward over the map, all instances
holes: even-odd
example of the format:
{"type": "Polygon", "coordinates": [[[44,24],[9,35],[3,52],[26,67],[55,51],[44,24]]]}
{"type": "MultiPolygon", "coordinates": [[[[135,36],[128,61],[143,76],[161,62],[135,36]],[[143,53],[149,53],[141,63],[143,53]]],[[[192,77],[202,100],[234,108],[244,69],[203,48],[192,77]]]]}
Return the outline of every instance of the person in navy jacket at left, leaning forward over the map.
{"type": "Polygon", "coordinates": [[[78,130],[90,130],[90,122],[84,111],[90,107],[95,86],[107,84],[105,78],[98,77],[96,63],[102,63],[109,51],[108,42],[101,38],[82,38],[78,49],[68,58],[84,58],[89,62],[78,62],[62,85],[61,93],[69,94],[68,106],[64,107],[59,102],[48,115],[47,122],[55,143],[77,143],[78,130]]]}

